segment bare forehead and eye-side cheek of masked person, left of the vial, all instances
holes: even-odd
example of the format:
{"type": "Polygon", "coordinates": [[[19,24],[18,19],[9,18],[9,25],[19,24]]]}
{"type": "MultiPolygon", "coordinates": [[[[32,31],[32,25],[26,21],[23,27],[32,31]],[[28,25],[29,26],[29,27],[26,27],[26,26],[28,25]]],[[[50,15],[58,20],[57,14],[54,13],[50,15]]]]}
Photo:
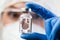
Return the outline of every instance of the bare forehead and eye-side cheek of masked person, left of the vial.
{"type": "MultiPolygon", "coordinates": [[[[10,8],[17,9],[17,8],[23,8],[24,6],[25,6],[25,2],[21,2],[21,3],[16,3],[14,5],[11,5],[6,9],[10,9],[10,8]]],[[[3,24],[5,25],[17,21],[19,15],[20,15],[19,12],[3,12],[2,15],[3,24]]]]}

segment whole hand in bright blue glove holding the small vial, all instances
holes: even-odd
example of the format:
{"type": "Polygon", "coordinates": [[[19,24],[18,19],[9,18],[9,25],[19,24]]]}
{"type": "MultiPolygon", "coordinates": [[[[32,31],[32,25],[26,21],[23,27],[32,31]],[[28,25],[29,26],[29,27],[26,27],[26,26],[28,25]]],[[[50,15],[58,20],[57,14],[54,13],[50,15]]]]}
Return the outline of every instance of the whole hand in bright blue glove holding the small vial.
{"type": "Polygon", "coordinates": [[[40,17],[45,19],[45,30],[46,35],[43,34],[22,34],[21,37],[26,40],[57,40],[59,39],[59,26],[60,26],[60,18],[56,17],[52,12],[45,9],[41,5],[35,3],[27,3],[26,6],[31,8],[33,12],[38,14],[40,17]],[[47,37],[46,37],[47,36],[47,37]]]}

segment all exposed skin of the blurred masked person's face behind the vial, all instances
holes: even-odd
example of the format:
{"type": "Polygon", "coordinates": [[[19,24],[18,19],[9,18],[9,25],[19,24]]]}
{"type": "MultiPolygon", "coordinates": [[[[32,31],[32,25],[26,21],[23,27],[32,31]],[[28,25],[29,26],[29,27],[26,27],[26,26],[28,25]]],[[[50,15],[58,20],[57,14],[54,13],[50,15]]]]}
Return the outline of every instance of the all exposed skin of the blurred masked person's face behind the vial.
{"type": "MultiPolygon", "coordinates": [[[[20,2],[20,3],[16,3],[13,4],[11,6],[9,6],[8,8],[6,8],[5,10],[9,10],[9,9],[20,9],[20,8],[24,8],[25,7],[25,2],[20,2]]],[[[19,16],[21,15],[21,12],[13,12],[13,11],[4,11],[2,14],[2,21],[3,24],[9,24],[15,21],[18,21],[19,16]]],[[[37,24],[37,25],[41,25],[43,27],[43,19],[40,18],[37,14],[31,13],[31,15],[33,16],[33,23],[37,24]]]]}

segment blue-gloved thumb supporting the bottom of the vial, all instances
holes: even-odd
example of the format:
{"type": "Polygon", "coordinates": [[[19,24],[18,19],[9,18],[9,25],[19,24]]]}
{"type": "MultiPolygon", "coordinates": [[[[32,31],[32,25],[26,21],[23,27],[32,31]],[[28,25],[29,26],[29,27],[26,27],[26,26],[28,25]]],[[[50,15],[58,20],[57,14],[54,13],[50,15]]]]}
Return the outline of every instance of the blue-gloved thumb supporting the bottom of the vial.
{"type": "Polygon", "coordinates": [[[21,38],[27,40],[47,40],[46,35],[39,34],[39,33],[22,34],[21,38]]]}

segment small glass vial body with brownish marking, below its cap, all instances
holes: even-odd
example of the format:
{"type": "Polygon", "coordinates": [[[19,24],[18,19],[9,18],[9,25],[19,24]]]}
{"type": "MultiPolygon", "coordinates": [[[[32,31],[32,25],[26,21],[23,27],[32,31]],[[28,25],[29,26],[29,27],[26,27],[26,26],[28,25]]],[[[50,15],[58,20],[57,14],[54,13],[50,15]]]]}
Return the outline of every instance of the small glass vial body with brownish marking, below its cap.
{"type": "Polygon", "coordinates": [[[32,16],[30,14],[22,14],[20,16],[20,32],[30,33],[32,31],[32,16]]]}

